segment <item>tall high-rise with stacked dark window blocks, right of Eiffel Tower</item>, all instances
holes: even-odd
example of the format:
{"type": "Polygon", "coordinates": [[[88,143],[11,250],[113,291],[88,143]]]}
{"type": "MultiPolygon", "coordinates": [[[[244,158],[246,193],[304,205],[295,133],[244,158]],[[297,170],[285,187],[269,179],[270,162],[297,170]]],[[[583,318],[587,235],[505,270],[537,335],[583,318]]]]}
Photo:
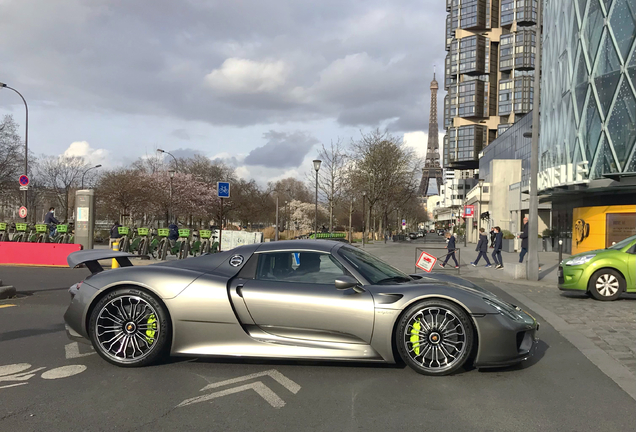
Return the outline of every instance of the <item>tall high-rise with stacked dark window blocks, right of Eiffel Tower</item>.
{"type": "Polygon", "coordinates": [[[443,165],[479,153],[532,109],[537,0],[447,0],[443,165]]]}

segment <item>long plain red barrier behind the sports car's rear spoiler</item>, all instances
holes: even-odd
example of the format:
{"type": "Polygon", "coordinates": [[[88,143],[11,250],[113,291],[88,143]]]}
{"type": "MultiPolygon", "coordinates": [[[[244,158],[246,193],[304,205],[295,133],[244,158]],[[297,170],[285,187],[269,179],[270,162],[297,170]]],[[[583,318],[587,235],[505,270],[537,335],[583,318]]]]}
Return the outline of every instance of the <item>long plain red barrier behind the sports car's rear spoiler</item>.
{"type": "Polygon", "coordinates": [[[66,257],[82,245],[0,242],[0,264],[68,267],[66,257]]]}

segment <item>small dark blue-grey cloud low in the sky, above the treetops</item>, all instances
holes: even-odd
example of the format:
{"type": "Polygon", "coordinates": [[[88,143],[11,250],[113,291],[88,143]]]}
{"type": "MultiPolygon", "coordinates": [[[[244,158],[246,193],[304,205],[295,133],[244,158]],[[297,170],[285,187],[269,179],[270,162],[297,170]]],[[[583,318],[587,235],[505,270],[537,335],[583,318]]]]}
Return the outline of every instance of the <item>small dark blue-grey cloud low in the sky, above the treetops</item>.
{"type": "Polygon", "coordinates": [[[247,165],[261,165],[269,168],[298,167],[318,140],[303,132],[276,132],[263,134],[267,144],[257,147],[245,158],[247,165]]]}

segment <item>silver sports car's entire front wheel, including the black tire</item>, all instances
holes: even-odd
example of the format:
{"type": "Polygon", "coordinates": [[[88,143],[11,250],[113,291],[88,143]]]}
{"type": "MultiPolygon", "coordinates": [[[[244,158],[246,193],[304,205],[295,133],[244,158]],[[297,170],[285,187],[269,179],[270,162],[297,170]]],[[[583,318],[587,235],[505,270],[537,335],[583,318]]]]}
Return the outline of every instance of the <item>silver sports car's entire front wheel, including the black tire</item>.
{"type": "Polygon", "coordinates": [[[402,360],[422,375],[450,375],[470,357],[474,344],[470,317],[445,300],[410,306],[395,330],[402,360]]]}

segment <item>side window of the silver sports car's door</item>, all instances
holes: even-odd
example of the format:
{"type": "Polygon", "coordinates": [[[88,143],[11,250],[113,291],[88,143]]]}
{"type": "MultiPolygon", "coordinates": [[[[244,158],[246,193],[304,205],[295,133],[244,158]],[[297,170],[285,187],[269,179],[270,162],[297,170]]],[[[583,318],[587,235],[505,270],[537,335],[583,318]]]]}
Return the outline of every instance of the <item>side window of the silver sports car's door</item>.
{"type": "Polygon", "coordinates": [[[260,254],[256,279],[308,284],[333,284],[349,272],[330,254],[272,252],[260,254]]]}

